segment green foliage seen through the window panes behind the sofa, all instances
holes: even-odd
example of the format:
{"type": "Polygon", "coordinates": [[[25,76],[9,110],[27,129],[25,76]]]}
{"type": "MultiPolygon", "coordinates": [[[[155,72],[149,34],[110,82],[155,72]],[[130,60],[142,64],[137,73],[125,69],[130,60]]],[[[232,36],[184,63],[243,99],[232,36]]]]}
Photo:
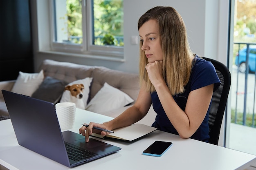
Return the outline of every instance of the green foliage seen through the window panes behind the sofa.
{"type": "MultiPolygon", "coordinates": [[[[124,46],[123,0],[94,0],[94,45],[124,46]],[[117,37],[118,40],[117,40],[117,37]],[[121,38],[120,38],[121,37],[121,38]]],[[[69,40],[82,43],[82,0],[66,0],[69,40]]]]}

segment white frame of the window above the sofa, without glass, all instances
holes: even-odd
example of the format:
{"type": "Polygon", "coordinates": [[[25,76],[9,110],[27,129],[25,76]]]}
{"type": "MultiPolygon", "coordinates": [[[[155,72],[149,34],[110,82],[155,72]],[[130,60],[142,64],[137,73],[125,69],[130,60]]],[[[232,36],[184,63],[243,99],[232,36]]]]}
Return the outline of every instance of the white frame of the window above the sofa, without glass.
{"type": "Polygon", "coordinates": [[[50,17],[50,49],[52,52],[69,53],[79,55],[80,57],[90,57],[94,59],[111,59],[124,60],[124,46],[98,46],[92,44],[92,3],[93,0],[82,0],[82,30],[83,43],[69,44],[55,41],[55,16],[54,16],[54,1],[49,0],[49,17],[50,17]],[[88,37],[86,39],[86,37],[88,37]]]}

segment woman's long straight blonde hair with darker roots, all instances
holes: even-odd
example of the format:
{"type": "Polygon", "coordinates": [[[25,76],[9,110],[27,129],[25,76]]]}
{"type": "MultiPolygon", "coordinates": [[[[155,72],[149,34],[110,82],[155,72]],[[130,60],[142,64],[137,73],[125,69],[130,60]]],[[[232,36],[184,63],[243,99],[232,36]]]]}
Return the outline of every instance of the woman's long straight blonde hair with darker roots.
{"type": "MultiPolygon", "coordinates": [[[[172,7],[154,7],[139,18],[139,28],[148,20],[156,20],[159,25],[159,37],[163,51],[162,75],[172,95],[184,92],[188,83],[193,53],[190,50],[186,27],[182,17],[172,7]]],[[[155,87],[148,78],[145,66],[148,64],[140,42],[139,75],[140,83],[146,82],[146,90],[154,92],[155,87]]]]}

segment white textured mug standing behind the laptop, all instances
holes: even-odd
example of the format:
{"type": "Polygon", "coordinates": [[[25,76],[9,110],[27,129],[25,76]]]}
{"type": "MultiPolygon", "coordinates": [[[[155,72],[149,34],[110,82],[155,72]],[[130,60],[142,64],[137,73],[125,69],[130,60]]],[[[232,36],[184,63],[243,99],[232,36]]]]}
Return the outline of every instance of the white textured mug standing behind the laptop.
{"type": "Polygon", "coordinates": [[[76,117],[76,104],[73,102],[60,102],[55,105],[55,109],[61,130],[72,129],[76,117]]]}

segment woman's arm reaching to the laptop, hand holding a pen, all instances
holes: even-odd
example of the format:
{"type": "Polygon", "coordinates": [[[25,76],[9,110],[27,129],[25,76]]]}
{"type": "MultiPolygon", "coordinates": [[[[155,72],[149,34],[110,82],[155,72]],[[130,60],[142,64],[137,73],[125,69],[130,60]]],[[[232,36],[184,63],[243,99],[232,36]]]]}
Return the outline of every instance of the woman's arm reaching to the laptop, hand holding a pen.
{"type": "MultiPolygon", "coordinates": [[[[142,86],[142,88],[139,91],[138,98],[132,107],[126,109],[126,111],[121,113],[121,115],[117,116],[117,118],[109,122],[105,122],[103,124],[90,122],[89,127],[87,128],[85,126],[82,126],[79,129],[79,133],[85,136],[85,141],[88,142],[89,135],[91,135],[92,133],[100,132],[95,129],[92,129],[92,127],[100,127],[103,129],[113,130],[120,127],[131,125],[135,122],[138,122],[139,120],[144,118],[144,116],[146,116],[151,106],[151,103],[152,102],[151,102],[150,92],[146,92],[142,86]]],[[[103,136],[107,135],[107,133],[103,131],[101,131],[100,133],[103,136]]]]}

